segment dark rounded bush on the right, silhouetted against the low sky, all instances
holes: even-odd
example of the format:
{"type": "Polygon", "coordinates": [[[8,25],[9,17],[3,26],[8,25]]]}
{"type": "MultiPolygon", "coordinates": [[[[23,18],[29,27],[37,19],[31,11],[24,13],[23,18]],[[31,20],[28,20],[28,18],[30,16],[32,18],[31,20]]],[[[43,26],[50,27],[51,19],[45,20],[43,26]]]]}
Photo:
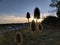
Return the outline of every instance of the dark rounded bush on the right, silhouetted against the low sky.
{"type": "Polygon", "coordinates": [[[43,28],[47,28],[47,26],[54,26],[58,24],[58,18],[55,16],[47,16],[41,23],[43,28]]]}

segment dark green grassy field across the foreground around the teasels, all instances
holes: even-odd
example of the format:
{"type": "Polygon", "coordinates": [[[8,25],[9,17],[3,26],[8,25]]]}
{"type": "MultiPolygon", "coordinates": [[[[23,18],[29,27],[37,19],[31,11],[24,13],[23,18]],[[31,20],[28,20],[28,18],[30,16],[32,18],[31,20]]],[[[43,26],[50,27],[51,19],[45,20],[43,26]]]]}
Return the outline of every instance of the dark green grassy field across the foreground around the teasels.
{"type": "Polygon", "coordinates": [[[22,34],[23,45],[60,45],[60,30],[35,31],[32,35],[29,29],[18,31],[6,31],[0,33],[0,45],[16,45],[15,35],[17,32],[22,34]],[[34,36],[34,41],[33,41],[34,36]],[[34,44],[32,44],[34,42],[34,44]]]}

